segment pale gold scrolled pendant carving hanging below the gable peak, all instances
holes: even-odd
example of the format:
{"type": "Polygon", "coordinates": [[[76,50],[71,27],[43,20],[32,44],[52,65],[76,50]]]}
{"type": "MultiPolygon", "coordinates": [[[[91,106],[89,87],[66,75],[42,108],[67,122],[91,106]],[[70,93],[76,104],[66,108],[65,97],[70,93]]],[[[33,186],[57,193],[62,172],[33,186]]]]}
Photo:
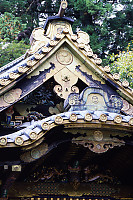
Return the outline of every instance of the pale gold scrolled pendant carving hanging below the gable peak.
{"type": "Polygon", "coordinates": [[[74,86],[74,84],[76,84],[78,81],[78,77],[70,72],[67,68],[63,68],[61,71],[55,74],[54,79],[60,84],[54,87],[54,91],[59,97],[66,99],[70,93],[79,92],[79,89],[74,86]]]}

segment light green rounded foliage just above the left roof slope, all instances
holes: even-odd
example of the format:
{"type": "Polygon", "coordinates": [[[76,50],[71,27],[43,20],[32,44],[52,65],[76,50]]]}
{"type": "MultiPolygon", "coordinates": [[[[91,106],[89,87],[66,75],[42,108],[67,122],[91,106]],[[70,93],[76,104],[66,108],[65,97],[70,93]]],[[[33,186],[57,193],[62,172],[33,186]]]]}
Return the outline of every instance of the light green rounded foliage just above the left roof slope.
{"type": "Polygon", "coordinates": [[[24,41],[21,41],[21,42],[14,41],[8,44],[8,46],[5,48],[3,48],[5,41],[0,40],[0,42],[1,42],[0,43],[0,67],[20,57],[26,52],[28,48],[30,48],[30,46],[26,45],[24,41]]]}

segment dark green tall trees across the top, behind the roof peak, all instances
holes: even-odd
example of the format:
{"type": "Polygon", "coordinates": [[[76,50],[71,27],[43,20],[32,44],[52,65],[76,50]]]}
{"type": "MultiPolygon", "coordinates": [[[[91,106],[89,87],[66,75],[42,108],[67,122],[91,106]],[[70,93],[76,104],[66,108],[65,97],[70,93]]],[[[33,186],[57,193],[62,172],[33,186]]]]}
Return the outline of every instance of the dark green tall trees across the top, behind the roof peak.
{"type": "MultiPolygon", "coordinates": [[[[123,51],[133,36],[133,1],[131,0],[67,0],[67,16],[73,18],[73,30],[77,28],[90,35],[94,53],[107,64],[108,54],[123,51]],[[121,9],[120,9],[121,8],[121,9]]],[[[8,11],[21,17],[27,27],[39,26],[56,15],[61,0],[1,0],[0,14],[8,11]]]]}

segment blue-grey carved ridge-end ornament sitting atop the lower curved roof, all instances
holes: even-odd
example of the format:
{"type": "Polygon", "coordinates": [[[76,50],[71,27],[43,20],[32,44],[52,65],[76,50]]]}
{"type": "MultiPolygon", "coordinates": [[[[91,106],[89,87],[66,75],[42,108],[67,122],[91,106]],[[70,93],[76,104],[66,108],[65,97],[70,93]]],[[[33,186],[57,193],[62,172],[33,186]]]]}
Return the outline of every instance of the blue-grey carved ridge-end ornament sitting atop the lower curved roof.
{"type": "Polygon", "coordinates": [[[109,95],[101,88],[87,87],[81,94],[71,93],[64,102],[65,109],[70,111],[92,110],[120,113],[122,99],[117,95],[109,95]]]}

